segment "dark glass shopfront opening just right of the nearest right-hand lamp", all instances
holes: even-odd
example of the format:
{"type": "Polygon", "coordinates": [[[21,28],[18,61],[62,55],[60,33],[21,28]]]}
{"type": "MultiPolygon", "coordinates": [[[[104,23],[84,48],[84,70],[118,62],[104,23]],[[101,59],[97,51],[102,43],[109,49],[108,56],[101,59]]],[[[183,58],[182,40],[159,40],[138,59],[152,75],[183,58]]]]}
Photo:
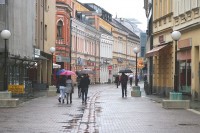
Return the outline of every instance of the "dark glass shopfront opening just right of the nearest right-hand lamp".
{"type": "Polygon", "coordinates": [[[179,91],[191,94],[191,60],[180,61],[179,91]]]}

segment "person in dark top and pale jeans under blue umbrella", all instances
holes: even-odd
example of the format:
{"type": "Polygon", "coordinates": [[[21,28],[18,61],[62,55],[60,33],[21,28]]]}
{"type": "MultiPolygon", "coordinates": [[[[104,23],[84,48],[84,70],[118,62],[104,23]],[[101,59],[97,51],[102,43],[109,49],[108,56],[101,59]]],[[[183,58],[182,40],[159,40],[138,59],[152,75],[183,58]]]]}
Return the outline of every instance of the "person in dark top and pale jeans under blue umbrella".
{"type": "Polygon", "coordinates": [[[59,90],[60,90],[60,96],[58,98],[58,101],[61,103],[61,100],[62,100],[62,103],[64,103],[65,89],[66,89],[66,76],[64,75],[59,76],[58,85],[59,85],[59,90]]]}

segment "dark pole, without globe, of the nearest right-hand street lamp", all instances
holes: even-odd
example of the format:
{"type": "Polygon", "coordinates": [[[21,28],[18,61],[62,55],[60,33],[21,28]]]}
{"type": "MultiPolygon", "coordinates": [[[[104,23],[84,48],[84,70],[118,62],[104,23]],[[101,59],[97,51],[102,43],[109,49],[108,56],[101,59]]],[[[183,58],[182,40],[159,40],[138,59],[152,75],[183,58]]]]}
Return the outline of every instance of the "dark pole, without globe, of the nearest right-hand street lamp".
{"type": "Polygon", "coordinates": [[[178,92],[178,74],[177,74],[177,41],[175,41],[174,91],[175,91],[175,92],[178,92]]]}

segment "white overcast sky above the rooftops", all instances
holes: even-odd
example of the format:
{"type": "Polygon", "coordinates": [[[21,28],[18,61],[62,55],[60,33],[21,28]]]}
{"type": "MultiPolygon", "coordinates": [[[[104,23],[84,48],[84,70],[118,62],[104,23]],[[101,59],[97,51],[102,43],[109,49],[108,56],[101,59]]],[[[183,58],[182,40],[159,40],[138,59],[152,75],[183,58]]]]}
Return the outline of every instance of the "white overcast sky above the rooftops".
{"type": "Polygon", "coordinates": [[[95,3],[118,18],[135,18],[142,24],[141,30],[146,30],[147,19],[144,10],[144,0],[78,0],[81,3],[95,3]]]}

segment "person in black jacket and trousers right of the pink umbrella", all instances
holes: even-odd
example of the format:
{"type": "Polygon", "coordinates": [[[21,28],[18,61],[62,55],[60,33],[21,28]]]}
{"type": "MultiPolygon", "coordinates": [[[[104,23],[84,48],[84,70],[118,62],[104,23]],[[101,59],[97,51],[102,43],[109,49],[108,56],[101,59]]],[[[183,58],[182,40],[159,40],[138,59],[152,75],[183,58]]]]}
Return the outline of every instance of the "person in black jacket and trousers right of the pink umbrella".
{"type": "Polygon", "coordinates": [[[82,103],[87,104],[87,94],[90,84],[90,79],[87,74],[83,75],[83,78],[80,81],[81,93],[82,93],[82,103]]]}

